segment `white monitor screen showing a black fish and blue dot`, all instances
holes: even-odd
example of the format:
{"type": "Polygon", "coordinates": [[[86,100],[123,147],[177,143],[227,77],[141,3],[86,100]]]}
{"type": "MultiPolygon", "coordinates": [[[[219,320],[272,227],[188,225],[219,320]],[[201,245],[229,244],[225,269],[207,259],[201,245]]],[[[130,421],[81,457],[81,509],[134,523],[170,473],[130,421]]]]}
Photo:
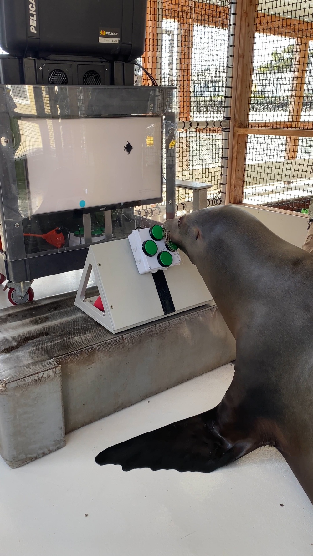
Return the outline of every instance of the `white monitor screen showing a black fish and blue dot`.
{"type": "Polygon", "coordinates": [[[162,196],[162,117],[19,120],[28,207],[44,214],[162,196]]]}

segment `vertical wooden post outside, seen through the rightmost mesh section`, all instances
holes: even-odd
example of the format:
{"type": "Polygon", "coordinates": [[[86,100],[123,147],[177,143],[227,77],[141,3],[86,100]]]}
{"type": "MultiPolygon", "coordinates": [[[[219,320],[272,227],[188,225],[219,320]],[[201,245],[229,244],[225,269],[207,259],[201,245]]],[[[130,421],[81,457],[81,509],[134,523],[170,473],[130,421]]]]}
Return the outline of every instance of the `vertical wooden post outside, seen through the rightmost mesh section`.
{"type": "MultiPolygon", "coordinates": [[[[291,127],[297,128],[301,122],[302,105],[304,98],[304,86],[307,61],[309,58],[310,39],[298,38],[295,52],[294,83],[292,85],[291,102],[288,120],[291,127]]],[[[299,137],[287,137],[285,159],[295,160],[297,158],[299,137]]]]}

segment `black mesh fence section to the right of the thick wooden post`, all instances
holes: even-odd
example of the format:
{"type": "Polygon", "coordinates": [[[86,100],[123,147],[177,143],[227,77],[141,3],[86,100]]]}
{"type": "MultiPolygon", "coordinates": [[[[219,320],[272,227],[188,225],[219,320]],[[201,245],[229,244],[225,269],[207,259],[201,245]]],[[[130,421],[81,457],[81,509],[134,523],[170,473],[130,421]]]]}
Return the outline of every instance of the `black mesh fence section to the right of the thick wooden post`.
{"type": "Polygon", "coordinates": [[[307,209],[313,190],[312,9],[306,0],[261,0],[255,17],[243,201],[307,209]],[[282,130],[286,130],[285,133],[282,130]],[[287,130],[299,130],[294,133],[287,130]],[[301,130],[304,135],[301,136],[301,130]],[[310,136],[310,131],[311,136],[310,136]],[[282,135],[284,133],[284,135],[282,135]]]}

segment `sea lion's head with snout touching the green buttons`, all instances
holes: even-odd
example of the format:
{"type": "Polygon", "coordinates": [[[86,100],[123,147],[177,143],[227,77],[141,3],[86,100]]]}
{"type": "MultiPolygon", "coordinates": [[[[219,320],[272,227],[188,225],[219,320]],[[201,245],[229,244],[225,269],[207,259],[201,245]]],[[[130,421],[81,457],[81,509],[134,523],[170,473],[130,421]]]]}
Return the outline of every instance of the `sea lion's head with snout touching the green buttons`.
{"type": "Polygon", "coordinates": [[[170,240],[188,255],[195,265],[206,249],[206,227],[211,209],[201,209],[164,223],[165,241],[170,240]]]}

